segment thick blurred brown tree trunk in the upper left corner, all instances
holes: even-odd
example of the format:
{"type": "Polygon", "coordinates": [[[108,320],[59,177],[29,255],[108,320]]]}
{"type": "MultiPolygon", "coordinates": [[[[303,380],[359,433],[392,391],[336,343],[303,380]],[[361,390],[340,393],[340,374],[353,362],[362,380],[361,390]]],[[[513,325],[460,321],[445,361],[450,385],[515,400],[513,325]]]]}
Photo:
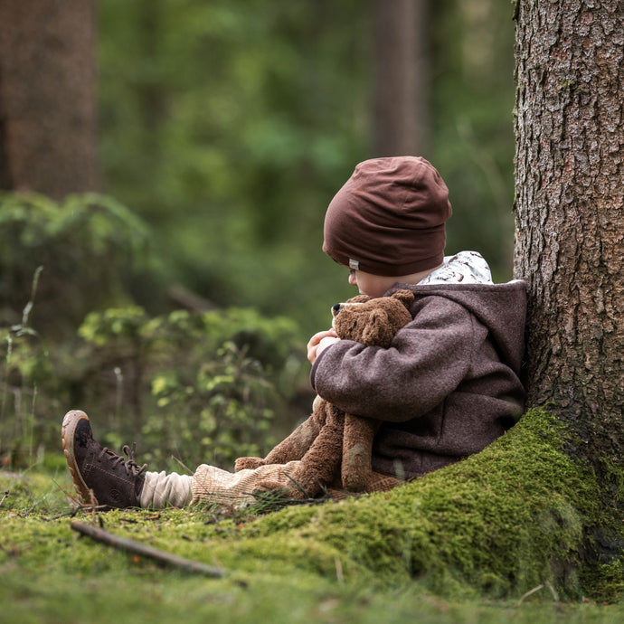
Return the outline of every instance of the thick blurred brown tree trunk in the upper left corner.
{"type": "Polygon", "coordinates": [[[0,188],[93,190],[93,0],[0,3],[0,188]]]}

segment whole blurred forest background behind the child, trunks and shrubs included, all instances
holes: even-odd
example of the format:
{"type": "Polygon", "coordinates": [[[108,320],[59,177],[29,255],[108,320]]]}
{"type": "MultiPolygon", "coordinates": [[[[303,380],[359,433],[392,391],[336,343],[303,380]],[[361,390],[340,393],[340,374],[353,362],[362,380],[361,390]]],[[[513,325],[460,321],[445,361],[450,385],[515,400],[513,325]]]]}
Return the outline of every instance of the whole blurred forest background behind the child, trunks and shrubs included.
{"type": "Polygon", "coordinates": [[[453,204],[447,251],[511,279],[512,14],[496,0],[0,7],[5,466],[58,445],[72,407],[101,414],[110,444],[224,465],[307,415],[305,342],[355,294],[321,251],[323,217],[365,158],[427,157],[453,204]]]}

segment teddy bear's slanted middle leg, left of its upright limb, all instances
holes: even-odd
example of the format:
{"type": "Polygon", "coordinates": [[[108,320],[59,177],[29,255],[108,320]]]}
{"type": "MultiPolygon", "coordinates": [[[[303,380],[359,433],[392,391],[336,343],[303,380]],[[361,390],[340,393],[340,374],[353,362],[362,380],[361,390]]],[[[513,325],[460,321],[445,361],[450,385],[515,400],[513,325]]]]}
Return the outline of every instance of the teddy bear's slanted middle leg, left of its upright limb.
{"type": "Polygon", "coordinates": [[[312,498],[333,483],[342,461],[345,412],[324,402],[325,425],[316,440],[290,475],[288,495],[292,498],[312,498]]]}

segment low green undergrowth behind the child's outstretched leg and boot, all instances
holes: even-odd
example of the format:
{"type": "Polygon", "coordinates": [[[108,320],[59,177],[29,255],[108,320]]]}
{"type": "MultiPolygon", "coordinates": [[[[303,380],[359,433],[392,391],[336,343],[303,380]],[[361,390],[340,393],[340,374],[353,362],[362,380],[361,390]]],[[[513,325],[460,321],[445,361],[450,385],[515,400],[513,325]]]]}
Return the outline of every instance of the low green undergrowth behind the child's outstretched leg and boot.
{"type": "MultiPolygon", "coordinates": [[[[30,309],[30,307],[27,306],[30,309]]],[[[78,336],[44,340],[24,322],[0,328],[0,458],[12,468],[56,448],[65,411],[83,408],[100,439],[141,457],[232,465],[266,452],[307,416],[297,326],[254,310],[150,317],[141,307],[91,312],[78,336]]]]}

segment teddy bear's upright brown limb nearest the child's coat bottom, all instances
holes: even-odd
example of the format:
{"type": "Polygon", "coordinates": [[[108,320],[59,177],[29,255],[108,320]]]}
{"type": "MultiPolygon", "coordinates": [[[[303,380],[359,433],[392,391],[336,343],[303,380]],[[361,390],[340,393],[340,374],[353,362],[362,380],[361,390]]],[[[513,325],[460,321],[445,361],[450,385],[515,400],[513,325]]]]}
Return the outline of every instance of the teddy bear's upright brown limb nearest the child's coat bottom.
{"type": "Polygon", "coordinates": [[[342,482],[349,492],[364,492],[371,481],[373,439],[381,421],[345,414],[342,482]]]}

